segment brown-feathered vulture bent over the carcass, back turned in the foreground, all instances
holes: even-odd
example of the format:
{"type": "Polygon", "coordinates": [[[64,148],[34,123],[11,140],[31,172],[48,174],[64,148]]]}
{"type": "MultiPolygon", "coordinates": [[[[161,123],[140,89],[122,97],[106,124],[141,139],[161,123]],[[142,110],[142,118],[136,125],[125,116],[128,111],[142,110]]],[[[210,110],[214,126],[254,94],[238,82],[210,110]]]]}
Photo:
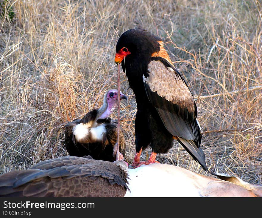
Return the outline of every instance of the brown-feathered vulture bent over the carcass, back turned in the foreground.
{"type": "Polygon", "coordinates": [[[1,197],[123,197],[128,188],[123,160],[65,156],[0,176],[1,197]]]}

